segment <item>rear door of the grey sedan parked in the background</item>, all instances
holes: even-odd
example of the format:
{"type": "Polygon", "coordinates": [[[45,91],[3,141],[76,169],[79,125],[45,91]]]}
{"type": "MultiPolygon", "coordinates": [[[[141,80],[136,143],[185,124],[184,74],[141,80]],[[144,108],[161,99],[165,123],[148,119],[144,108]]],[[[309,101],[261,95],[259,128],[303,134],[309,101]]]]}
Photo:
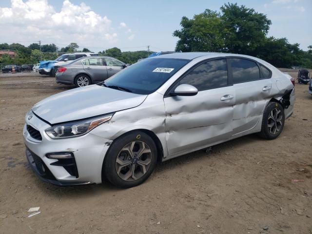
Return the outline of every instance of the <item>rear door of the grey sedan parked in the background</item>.
{"type": "Polygon", "coordinates": [[[83,69],[94,82],[107,79],[107,69],[102,58],[90,58],[82,60],[83,69]]]}

